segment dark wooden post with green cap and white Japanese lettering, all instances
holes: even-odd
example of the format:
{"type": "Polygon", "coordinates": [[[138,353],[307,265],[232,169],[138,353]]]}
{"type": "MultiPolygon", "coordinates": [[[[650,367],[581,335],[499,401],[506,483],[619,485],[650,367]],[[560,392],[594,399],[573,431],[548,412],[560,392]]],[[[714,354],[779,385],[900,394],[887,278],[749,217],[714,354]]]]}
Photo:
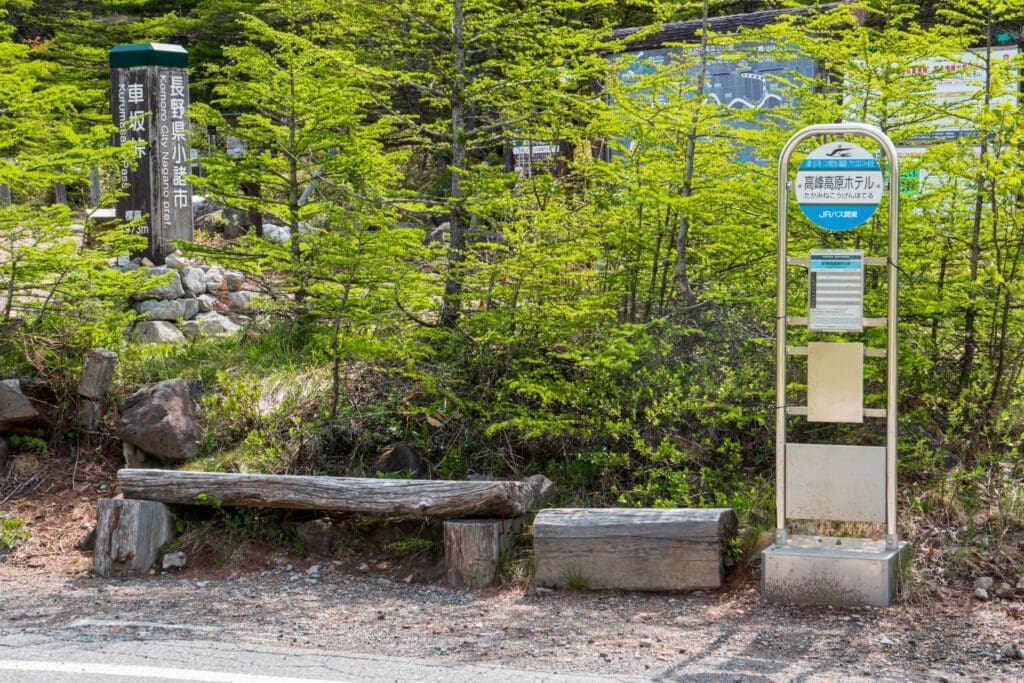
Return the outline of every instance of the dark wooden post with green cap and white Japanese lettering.
{"type": "Polygon", "coordinates": [[[191,169],[188,146],[188,53],[180,45],[115,45],[111,59],[111,112],[117,143],[132,145],[134,168],[121,168],[121,220],[145,218],[132,228],[146,236],[144,252],[155,263],[193,240],[191,169]]]}

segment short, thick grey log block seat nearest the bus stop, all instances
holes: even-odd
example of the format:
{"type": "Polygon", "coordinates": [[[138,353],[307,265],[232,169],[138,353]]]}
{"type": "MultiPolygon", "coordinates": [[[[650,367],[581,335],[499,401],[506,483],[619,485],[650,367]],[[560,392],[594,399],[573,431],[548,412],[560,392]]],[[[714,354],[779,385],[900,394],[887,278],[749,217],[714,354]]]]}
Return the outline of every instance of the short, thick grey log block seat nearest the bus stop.
{"type": "Polygon", "coordinates": [[[729,508],[542,510],[534,519],[536,581],[553,588],[714,590],[735,533],[729,508]]]}

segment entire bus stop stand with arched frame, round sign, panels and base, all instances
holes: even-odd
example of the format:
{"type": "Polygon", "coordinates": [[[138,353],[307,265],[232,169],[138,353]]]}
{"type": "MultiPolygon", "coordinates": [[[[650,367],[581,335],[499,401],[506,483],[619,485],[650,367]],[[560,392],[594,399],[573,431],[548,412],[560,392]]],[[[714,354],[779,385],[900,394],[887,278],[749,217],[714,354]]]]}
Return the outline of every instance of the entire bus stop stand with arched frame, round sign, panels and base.
{"type": "Polygon", "coordinates": [[[786,142],[778,166],[778,255],[776,338],[776,524],[775,544],[764,551],[762,594],[766,599],[810,604],[888,605],[896,590],[898,569],[908,546],[896,526],[896,333],[899,256],[899,159],[892,141],[879,128],[860,123],[810,126],[786,142]],[[812,137],[835,136],[811,152],[790,184],[790,161],[812,137]],[[800,208],[819,227],[850,230],[873,215],[885,190],[882,167],[874,156],[848,138],[874,140],[888,163],[888,252],[811,250],[787,252],[787,204],[791,188],[800,208]],[[790,315],[788,268],[809,270],[808,315],[790,315]],[[864,268],[885,267],[888,300],[885,317],[864,317],[864,268]],[[811,341],[790,346],[791,327],[815,333],[859,334],[884,327],[884,348],[860,341],[811,341]],[[786,360],[807,356],[807,405],[786,399],[786,360]],[[886,359],[886,408],[863,404],[865,358],[886,359]],[[862,423],[886,420],[886,445],[794,443],[787,419],[810,422],[862,423]],[[885,541],[791,536],[787,519],[884,523],[885,541]]]}

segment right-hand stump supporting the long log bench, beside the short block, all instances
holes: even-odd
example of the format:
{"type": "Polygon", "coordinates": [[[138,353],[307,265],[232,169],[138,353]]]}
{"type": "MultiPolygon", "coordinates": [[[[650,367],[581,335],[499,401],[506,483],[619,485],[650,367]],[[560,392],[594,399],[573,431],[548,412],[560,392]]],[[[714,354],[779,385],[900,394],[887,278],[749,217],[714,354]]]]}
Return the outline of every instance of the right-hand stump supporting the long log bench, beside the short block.
{"type": "Polygon", "coordinates": [[[454,588],[483,588],[495,581],[509,535],[522,527],[522,519],[444,520],[444,563],[454,588]]]}

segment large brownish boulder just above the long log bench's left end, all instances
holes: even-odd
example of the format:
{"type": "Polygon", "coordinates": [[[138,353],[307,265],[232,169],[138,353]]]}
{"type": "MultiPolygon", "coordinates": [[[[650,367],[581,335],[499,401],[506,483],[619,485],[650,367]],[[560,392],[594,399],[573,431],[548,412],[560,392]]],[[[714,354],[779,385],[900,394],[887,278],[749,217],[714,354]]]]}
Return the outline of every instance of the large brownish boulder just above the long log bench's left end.
{"type": "Polygon", "coordinates": [[[198,381],[175,379],[139,389],[122,403],[115,435],[161,460],[193,458],[204,434],[200,387],[198,381]]]}

